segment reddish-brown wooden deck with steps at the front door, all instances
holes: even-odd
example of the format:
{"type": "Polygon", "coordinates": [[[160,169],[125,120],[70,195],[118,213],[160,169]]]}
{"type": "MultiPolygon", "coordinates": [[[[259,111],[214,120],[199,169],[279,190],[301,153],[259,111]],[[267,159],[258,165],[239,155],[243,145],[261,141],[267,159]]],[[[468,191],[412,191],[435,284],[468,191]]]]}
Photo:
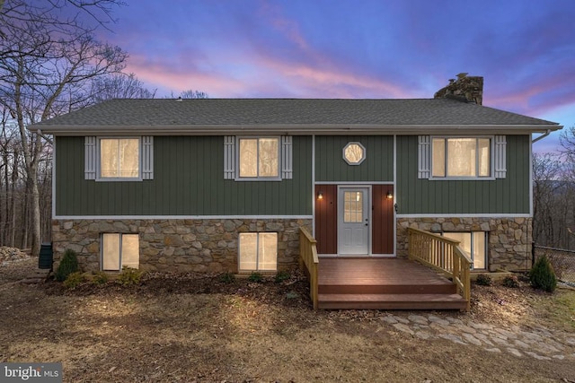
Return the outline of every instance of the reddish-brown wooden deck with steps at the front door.
{"type": "Polygon", "coordinates": [[[403,258],[321,258],[318,309],[465,309],[456,284],[403,258]]]}

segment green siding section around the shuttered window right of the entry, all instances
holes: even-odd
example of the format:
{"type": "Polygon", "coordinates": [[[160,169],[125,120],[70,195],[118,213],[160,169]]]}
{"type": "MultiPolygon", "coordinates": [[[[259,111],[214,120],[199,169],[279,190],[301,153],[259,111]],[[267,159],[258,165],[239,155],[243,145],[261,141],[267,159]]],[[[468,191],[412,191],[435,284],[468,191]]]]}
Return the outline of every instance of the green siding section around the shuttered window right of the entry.
{"type": "Polygon", "coordinates": [[[429,180],[418,178],[418,137],[397,136],[400,214],[529,213],[529,135],[507,136],[506,178],[429,180]]]}

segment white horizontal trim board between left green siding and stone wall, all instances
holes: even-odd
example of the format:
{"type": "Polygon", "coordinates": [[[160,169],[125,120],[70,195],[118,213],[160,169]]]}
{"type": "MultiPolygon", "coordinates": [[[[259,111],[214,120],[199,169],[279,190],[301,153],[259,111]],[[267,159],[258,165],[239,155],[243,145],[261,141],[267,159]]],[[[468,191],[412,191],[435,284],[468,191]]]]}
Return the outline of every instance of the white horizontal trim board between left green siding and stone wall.
{"type": "Polygon", "coordinates": [[[55,220],[311,220],[313,215],[55,215],[55,220]]]}

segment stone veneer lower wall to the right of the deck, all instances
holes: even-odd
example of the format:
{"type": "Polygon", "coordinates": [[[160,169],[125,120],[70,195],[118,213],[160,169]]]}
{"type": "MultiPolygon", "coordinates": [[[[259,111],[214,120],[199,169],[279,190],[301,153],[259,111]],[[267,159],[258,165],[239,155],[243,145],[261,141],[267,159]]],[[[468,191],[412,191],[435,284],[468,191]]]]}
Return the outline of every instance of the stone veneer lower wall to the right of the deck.
{"type": "Polygon", "coordinates": [[[487,231],[489,271],[525,271],[531,267],[532,218],[398,218],[397,255],[407,257],[407,228],[424,231],[487,231]]]}

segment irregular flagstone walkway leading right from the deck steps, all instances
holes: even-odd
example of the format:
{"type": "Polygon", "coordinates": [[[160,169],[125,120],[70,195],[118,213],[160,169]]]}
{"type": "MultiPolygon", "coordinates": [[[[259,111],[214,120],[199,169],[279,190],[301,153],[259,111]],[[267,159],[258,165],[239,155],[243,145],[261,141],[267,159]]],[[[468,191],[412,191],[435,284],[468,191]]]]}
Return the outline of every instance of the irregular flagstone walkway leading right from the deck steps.
{"type": "Polygon", "coordinates": [[[502,328],[433,314],[407,317],[388,314],[381,320],[397,331],[420,339],[447,339],[455,344],[481,346],[490,353],[510,353],[537,360],[575,359],[575,335],[551,333],[543,327],[526,331],[519,326],[502,328]]]}

